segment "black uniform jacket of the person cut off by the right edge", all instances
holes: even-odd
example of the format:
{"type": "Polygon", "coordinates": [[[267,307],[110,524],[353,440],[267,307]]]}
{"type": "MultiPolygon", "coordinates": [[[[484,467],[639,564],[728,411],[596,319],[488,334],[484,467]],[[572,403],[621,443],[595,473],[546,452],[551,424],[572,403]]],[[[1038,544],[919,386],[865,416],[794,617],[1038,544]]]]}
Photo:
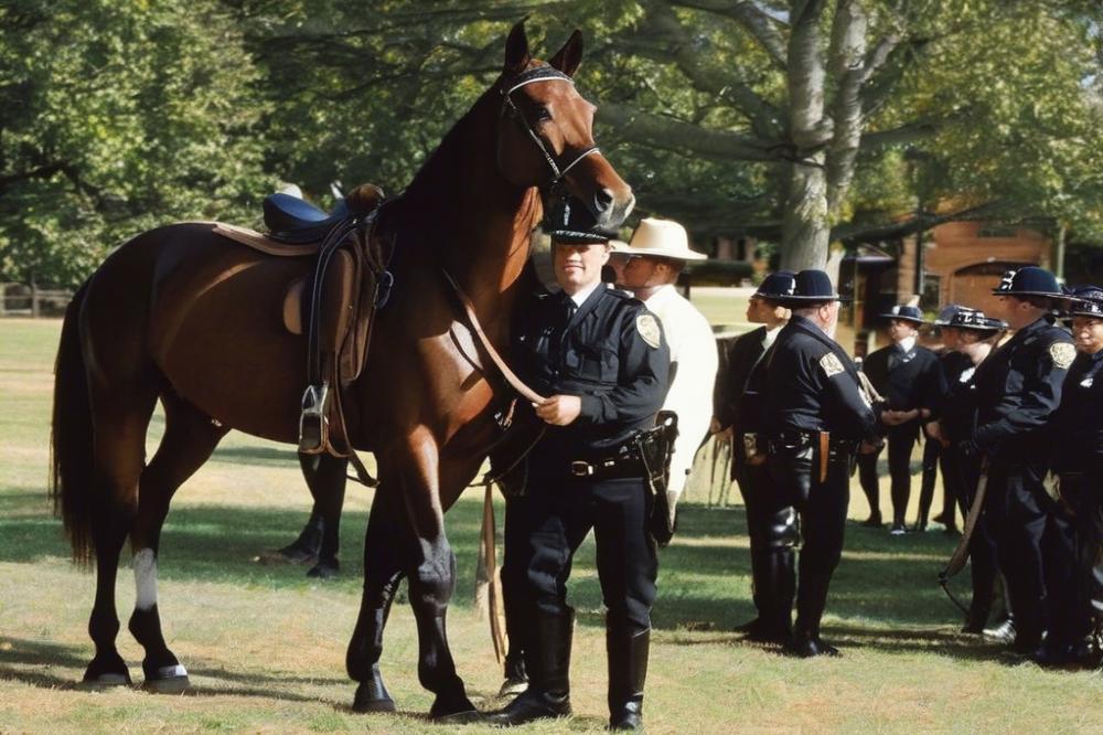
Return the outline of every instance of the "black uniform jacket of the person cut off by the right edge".
{"type": "Polygon", "coordinates": [[[1103,351],[1077,355],[1048,432],[1053,469],[1083,472],[1099,466],[1103,458],[1103,351]]]}

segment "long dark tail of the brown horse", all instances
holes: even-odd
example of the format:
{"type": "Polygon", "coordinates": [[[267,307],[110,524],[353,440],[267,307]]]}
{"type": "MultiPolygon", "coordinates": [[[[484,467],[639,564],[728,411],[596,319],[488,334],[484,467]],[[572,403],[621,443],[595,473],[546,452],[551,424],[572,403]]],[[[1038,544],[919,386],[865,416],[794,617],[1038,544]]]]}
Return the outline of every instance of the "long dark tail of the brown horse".
{"type": "Polygon", "coordinates": [[[88,283],[65,309],[54,364],[54,413],[50,433],[50,497],[73,546],[73,560],[87,566],[95,551],[92,533],[95,479],[92,401],[81,345],[81,308],[88,283]]]}

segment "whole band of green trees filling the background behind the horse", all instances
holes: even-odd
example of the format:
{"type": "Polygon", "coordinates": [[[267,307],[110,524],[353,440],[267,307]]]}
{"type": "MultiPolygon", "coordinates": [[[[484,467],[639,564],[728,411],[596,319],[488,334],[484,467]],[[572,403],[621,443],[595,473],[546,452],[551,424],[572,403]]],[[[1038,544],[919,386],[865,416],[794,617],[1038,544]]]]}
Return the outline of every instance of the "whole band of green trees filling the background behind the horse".
{"type": "Polygon", "coordinates": [[[73,280],[144,226],[253,223],[276,180],[323,205],[334,179],[395,193],[523,17],[545,54],[586,33],[579,87],[640,214],[778,243],[791,266],[953,216],[1103,238],[1101,15],[1093,0],[15,0],[0,269],[73,280]]]}

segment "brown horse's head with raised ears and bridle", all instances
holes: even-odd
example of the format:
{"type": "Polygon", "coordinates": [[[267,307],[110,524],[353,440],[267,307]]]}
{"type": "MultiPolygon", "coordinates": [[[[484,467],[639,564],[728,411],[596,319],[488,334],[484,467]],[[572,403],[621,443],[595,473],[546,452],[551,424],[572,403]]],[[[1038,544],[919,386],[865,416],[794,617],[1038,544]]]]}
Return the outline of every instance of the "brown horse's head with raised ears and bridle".
{"type": "Polygon", "coordinates": [[[635,196],[593,142],[597,108],[578,94],[572,79],[581,60],[578,31],[544,63],[528,53],[524,22],[513,26],[499,81],[499,168],[510,182],[539,187],[545,196],[574,195],[599,225],[615,228],[635,196]]]}

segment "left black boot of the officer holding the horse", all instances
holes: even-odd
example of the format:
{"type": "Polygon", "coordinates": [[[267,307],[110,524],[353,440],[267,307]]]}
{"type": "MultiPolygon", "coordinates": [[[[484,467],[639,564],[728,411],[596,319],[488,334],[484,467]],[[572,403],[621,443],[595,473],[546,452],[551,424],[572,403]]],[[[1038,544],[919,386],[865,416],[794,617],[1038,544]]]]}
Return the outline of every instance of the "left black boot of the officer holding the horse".
{"type": "Polygon", "coordinates": [[[575,612],[570,608],[558,612],[535,610],[533,633],[525,649],[528,689],[490,715],[491,724],[523,725],[534,720],[570,714],[570,639],[574,629],[575,612]]]}

